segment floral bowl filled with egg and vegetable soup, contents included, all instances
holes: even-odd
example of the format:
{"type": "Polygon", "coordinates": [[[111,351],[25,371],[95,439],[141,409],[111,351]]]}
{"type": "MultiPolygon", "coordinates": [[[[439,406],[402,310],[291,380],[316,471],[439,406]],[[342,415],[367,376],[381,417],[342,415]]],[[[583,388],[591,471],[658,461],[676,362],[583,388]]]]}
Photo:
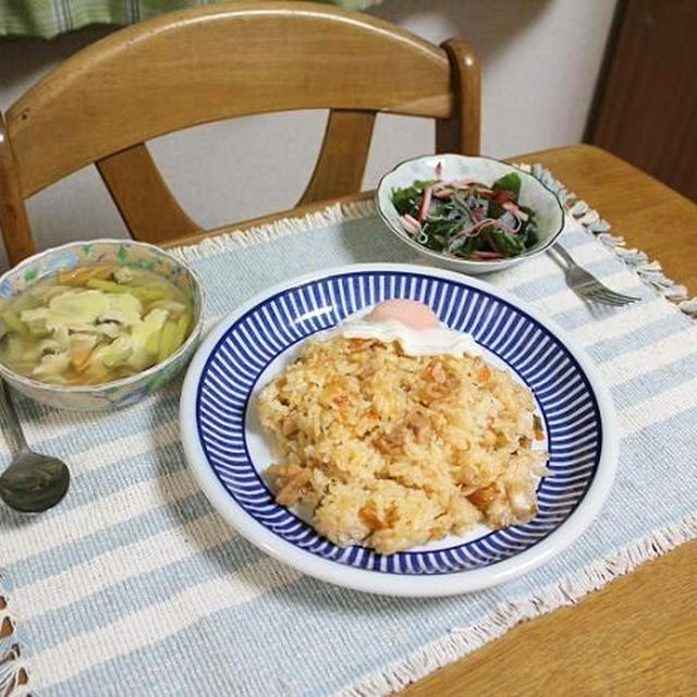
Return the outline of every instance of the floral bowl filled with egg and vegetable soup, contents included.
{"type": "Polygon", "coordinates": [[[0,278],[0,375],[51,406],[125,406],[184,367],[201,325],[200,285],[175,256],[75,242],[0,278]]]}

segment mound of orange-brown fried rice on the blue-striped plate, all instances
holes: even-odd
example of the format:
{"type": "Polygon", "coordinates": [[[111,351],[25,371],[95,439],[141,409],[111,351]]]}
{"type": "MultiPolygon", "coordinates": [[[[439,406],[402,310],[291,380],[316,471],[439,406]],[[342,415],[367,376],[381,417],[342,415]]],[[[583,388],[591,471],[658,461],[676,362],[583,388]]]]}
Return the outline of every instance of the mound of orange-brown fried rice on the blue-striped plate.
{"type": "Polygon", "coordinates": [[[337,545],[391,553],[535,514],[547,453],[533,393],[480,357],[315,339],[257,406],[277,502],[337,545]]]}

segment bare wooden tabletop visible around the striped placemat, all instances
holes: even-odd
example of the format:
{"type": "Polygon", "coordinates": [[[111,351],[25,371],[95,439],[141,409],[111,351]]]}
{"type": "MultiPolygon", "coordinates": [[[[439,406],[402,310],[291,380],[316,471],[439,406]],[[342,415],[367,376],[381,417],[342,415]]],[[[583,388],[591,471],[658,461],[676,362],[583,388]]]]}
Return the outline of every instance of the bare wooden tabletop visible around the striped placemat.
{"type": "MultiPolygon", "coordinates": [[[[659,259],[670,278],[697,295],[695,204],[590,146],[528,152],[511,161],[549,168],[598,209],[615,234],[659,259]]],[[[244,228],[322,206],[266,216],[244,228]]],[[[644,564],[574,608],[518,625],[407,687],[401,697],[697,695],[696,578],[697,541],[644,564]]]]}

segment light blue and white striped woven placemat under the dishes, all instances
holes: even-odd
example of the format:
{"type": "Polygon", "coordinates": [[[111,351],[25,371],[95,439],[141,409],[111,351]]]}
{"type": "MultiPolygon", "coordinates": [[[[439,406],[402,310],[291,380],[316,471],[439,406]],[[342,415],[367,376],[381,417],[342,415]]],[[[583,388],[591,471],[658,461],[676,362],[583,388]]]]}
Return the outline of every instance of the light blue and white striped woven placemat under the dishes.
{"type": "MultiPolygon", "coordinates": [[[[181,382],[107,414],[20,400],[28,440],[64,457],[74,478],[47,514],[0,510],[0,694],[384,695],[695,537],[697,326],[689,314],[697,304],[548,172],[533,169],[570,210],[566,248],[612,288],[644,298],[591,313],[547,256],[489,277],[586,347],[619,412],[616,482],[572,548],[466,597],[398,599],[333,587],[265,557],[211,510],[180,445],[181,382]]],[[[179,254],[203,279],[211,322],[309,270],[416,261],[365,203],[179,254]]]]}

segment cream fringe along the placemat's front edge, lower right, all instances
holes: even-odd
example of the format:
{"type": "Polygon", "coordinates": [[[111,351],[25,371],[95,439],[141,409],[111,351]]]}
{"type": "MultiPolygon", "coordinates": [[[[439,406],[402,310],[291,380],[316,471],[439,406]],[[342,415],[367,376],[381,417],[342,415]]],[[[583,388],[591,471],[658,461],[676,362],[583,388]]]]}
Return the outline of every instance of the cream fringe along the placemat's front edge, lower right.
{"type": "Polygon", "coordinates": [[[359,682],[335,692],[332,697],[377,697],[403,689],[429,673],[481,648],[526,620],[564,606],[576,604],[584,596],[634,571],[639,564],[697,538],[697,513],[636,539],[616,552],[599,559],[563,582],[541,588],[528,598],[497,606],[480,622],[453,627],[448,636],[418,649],[359,682]]]}

